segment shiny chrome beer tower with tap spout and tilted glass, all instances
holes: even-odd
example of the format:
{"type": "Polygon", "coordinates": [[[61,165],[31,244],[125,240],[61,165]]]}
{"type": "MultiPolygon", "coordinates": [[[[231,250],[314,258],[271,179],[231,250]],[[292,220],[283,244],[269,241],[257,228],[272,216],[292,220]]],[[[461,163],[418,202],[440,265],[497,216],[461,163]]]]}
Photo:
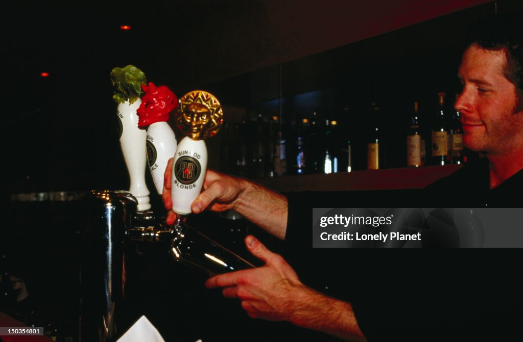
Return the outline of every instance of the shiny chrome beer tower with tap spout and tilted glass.
{"type": "Polygon", "coordinates": [[[86,202],[81,341],[115,341],[129,328],[120,317],[130,242],[155,244],[174,262],[209,276],[254,267],[186,223],[167,226],[164,218],[156,219],[151,211],[137,211],[138,201],[128,192],[93,191],[86,202]]]}

